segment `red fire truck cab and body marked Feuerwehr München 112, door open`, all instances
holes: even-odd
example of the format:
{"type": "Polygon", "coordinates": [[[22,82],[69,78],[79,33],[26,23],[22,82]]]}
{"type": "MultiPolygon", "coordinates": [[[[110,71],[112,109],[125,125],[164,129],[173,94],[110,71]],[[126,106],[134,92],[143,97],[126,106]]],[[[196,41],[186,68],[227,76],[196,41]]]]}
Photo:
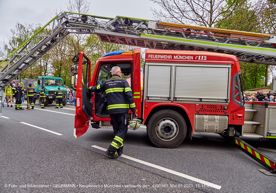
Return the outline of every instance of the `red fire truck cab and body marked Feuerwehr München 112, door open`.
{"type": "Polygon", "coordinates": [[[194,132],[236,137],[242,133],[245,108],[236,56],[206,51],[146,50],[142,92],[140,48],[103,55],[92,77],[91,62],[82,51],[76,65],[78,72],[72,75],[77,93],[76,138],[89,125],[112,128],[106,93],[91,94],[88,87],[108,80],[113,66],[119,66],[131,78],[136,113],[144,118],[148,136],[156,146],[176,147],[186,135],[192,139],[194,132]]]}

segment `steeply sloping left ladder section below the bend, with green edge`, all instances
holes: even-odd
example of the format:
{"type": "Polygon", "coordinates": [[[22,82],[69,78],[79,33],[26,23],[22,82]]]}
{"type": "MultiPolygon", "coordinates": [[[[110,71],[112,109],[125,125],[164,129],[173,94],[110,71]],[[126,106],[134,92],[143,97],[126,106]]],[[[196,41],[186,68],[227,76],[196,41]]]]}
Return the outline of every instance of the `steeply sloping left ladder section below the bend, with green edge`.
{"type": "Polygon", "coordinates": [[[18,77],[68,34],[68,31],[64,30],[61,25],[62,19],[62,17],[56,16],[2,61],[7,61],[7,64],[0,71],[0,90],[5,88],[10,81],[18,77]],[[43,29],[50,24],[52,24],[51,33],[43,35],[43,29]],[[34,42],[38,43],[34,45],[34,42]]]}

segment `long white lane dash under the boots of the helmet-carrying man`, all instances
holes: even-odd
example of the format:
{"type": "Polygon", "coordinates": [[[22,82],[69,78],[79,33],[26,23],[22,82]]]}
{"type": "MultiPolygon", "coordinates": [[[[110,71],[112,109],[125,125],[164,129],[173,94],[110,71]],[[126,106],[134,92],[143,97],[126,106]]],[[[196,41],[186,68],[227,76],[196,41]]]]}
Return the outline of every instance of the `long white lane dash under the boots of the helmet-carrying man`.
{"type": "MultiPolygon", "coordinates": [[[[94,148],[97,148],[97,149],[100,149],[100,150],[103,150],[103,151],[107,151],[107,149],[102,148],[102,147],[99,147],[99,146],[97,146],[97,145],[92,145],[91,147],[94,147],[94,148]]],[[[159,170],[163,170],[163,171],[165,171],[165,172],[172,173],[172,174],[177,175],[177,176],[181,176],[181,177],[183,177],[183,178],[187,178],[187,179],[189,179],[189,180],[192,180],[192,181],[195,181],[195,182],[198,182],[198,183],[201,183],[201,184],[205,184],[205,185],[207,185],[207,186],[211,186],[211,187],[216,188],[216,189],[221,189],[221,186],[219,186],[219,185],[216,185],[216,184],[213,184],[213,183],[204,181],[204,180],[200,180],[200,179],[198,179],[198,178],[194,178],[194,177],[192,177],[192,176],[188,176],[188,175],[186,175],[186,174],[183,174],[183,173],[180,173],[180,172],[176,172],[176,171],[174,171],[174,170],[170,170],[170,169],[161,167],[161,166],[159,166],[159,165],[151,164],[151,163],[149,163],[149,162],[145,162],[145,161],[142,161],[142,160],[140,160],[140,159],[136,159],[136,158],[133,158],[133,157],[129,157],[129,156],[126,156],[126,155],[123,155],[123,154],[122,154],[121,157],[124,157],[124,158],[126,158],[126,159],[130,159],[130,160],[135,161],[135,162],[139,162],[139,163],[141,163],[141,164],[148,165],[148,166],[153,167],[153,168],[157,168],[157,169],[159,169],[159,170]]]]}

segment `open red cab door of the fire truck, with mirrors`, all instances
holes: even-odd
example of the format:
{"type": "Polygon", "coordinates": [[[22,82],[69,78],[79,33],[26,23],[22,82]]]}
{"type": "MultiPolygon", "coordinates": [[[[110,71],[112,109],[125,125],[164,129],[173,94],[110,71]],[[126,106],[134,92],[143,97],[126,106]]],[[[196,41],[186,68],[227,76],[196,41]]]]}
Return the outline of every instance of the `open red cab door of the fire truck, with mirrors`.
{"type": "Polygon", "coordinates": [[[82,51],[79,52],[79,56],[76,56],[74,58],[76,59],[75,65],[78,64],[78,70],[77,76],[75,75],[77,88],[74,136],[78,138],[87,131],[89,124],[91,124],[90,118],[92,116],[93,103],[91,101],[92,94],[89,92],[89,85],[91,85],[91,62],[82,51]]]}

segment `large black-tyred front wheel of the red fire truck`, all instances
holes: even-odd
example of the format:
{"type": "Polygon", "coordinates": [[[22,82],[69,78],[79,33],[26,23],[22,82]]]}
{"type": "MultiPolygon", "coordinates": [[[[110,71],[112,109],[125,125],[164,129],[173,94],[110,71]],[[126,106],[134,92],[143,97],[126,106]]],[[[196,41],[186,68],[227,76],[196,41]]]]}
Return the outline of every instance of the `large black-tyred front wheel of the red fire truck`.
{"type": "Polygon", "coordinates": [[[147,133],[154,145],[160,148],[174,148],[185,139],[187,125],[176,111],[160,110],[148,121],[147,133]]]}

